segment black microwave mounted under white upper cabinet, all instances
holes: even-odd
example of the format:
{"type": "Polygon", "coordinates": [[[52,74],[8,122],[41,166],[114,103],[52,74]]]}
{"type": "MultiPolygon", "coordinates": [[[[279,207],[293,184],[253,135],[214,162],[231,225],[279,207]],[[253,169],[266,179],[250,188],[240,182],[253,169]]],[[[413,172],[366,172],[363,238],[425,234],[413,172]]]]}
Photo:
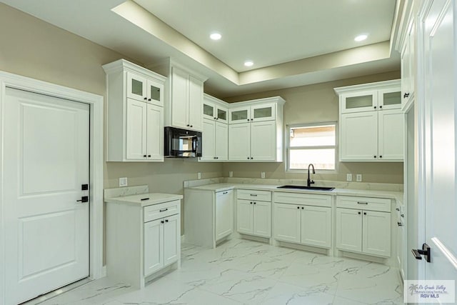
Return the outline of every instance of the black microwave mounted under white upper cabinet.
{"type": "Polygon", "coordinates": [[[166,158],[192,158],[201,156],[201,132],[165,127],[166,158]]]}

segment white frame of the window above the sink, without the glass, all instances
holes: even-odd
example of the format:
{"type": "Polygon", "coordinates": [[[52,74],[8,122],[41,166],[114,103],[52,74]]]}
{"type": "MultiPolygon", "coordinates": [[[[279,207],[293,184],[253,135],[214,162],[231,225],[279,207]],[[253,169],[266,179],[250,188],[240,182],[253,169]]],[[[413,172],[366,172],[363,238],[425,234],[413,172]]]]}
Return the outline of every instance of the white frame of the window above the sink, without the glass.
{"type": "Polygon", "coordinates": [[[308,169],[291,169],[290,168],[290,159],[291,159],[291,150],[295,149],[335,149],[335,169],[316,169],[316,173],[318,174],[338,174],[338,122],[337,121],[323,121],[323,122],[315,122],[315,123],[302,123],[302,124],[287,124],[286,125],[286,172],[288,173],[308,173],[308,169]],[[297,146],[291,149],[291,141],[290,141],[290,134],[291,129],[297,127],[313,127],[313,126],[326,126],[326,125],[334,125],[335,126],[335,146],[333,145],[323,145],[323,146],[297,146]]]}

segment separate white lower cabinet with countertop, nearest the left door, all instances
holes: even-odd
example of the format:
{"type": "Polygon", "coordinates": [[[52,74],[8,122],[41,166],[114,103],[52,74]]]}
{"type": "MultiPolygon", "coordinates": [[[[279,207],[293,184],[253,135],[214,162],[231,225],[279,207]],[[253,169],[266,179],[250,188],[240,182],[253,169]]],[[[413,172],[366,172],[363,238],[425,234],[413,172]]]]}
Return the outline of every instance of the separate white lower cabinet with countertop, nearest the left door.
{"type": "Polygon", "coordinates": [[[179,268],[182,196],[119,198],[106,201],[106,275],[142,288],[146,277],[159,276],[167,266],[179,268]]]}

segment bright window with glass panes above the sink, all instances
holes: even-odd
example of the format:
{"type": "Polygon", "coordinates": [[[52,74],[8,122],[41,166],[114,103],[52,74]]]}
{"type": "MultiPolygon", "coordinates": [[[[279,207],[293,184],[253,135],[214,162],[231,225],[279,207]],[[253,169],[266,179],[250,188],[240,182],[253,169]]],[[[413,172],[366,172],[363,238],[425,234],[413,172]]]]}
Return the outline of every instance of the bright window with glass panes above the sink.
{"type": "Polygon", "coordinates": [[[301,124],[287,127],[288,170],[334,170],[336,164],[336,123],[301,124]]]}

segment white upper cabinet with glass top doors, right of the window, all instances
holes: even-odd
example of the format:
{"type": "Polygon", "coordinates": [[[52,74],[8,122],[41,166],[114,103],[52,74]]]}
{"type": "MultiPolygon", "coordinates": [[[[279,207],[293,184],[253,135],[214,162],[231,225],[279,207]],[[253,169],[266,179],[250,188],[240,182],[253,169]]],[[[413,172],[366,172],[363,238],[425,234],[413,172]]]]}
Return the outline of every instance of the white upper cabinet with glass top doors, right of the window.
{"type": "Polygon", "coordinates": [[[400,80],[335,89],[340,161],[403,161],[400,80]]]}

